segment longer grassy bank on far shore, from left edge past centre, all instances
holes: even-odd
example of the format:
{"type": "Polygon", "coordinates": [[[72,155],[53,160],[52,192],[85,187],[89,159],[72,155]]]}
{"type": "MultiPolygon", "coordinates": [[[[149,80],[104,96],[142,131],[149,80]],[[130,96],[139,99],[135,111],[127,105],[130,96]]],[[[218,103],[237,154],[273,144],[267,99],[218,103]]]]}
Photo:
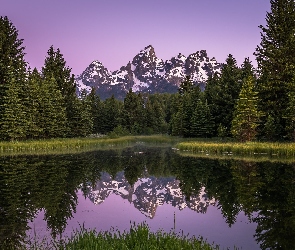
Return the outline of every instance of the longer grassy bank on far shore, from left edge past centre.
{"type": "Polygon", "coordinates": [[[132,146],[136,143],[171,145],[179,141],[178,137],[151,135],[0,142],[0,155],[79,153],[95,149],[132,146]]]}

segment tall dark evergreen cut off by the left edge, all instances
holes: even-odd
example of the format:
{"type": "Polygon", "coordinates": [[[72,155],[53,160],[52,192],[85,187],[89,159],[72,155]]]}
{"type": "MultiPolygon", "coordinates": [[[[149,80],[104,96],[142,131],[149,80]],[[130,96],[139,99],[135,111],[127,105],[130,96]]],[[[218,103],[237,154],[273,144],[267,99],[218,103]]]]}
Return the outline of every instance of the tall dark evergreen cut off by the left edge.
{"type": "Polygon", "coordinates": [[[27,63],[24,60],[23,39],[7,17],[0,17],[0,138],[26,137],[26,110],[22,99],[26,97],[27,63]],[[19,127],[20,126],[20,127],[19,127]],[[8,130],[7,130],[8,129],[8,130]]]}

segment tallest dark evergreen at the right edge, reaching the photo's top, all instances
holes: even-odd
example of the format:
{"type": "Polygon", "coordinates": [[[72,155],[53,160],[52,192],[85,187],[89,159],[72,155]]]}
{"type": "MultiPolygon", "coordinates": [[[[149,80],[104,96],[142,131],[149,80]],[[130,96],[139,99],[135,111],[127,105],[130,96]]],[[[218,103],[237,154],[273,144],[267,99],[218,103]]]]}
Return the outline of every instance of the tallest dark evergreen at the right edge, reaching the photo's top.
{"type": "Polygon", "coordinates": [[[266,123],[266,119],[273,116],[276,133],[272,139],[282,139],[288,133],[288,87],[295,75],[295,2],[271,0],[270,4],[271,11],[266,15],[267,24],[265,27],[259,26],[261,42],[254,54],[260,76],[260,109],[266,114],[263,122],[266,123]]]}

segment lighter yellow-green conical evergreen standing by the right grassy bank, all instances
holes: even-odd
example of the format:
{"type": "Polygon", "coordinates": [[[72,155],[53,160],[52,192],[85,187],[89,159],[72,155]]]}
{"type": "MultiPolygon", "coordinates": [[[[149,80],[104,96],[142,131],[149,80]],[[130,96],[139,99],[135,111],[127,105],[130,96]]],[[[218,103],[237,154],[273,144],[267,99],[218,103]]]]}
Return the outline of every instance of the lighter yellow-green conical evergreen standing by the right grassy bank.
{"type": "Polygon", "coordinates": [[[255,81],[248,76],[243,82],[239,99],[234,111],[231,132],[240,141],[252,141],[257,134],[260,112],[257,107],[255,81]]]}

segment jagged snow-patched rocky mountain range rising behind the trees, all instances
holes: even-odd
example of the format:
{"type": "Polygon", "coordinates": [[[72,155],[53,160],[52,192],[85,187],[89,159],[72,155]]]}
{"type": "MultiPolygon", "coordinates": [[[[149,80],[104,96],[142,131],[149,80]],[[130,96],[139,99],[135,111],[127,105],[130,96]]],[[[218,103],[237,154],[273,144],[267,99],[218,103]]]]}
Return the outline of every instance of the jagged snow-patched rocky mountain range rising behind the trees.
{"type": "Polygon", "coordinates": [[[186,75],[190,75],[194,84],[204,88],[208,76],[220,72],[221,63],[215,58],[209,59],[205,50],[197,51],[185,57],[178,54],[163,61],[156,56],[149,45],[141,50],[126,66],[114,72],[105,68],[101,62],[92,62],[76,78],[77,93],[87,92],[94,87],[102,99],[112,94],[123,99],[131,88],[133,92],[174,93],[186,75]]]}

